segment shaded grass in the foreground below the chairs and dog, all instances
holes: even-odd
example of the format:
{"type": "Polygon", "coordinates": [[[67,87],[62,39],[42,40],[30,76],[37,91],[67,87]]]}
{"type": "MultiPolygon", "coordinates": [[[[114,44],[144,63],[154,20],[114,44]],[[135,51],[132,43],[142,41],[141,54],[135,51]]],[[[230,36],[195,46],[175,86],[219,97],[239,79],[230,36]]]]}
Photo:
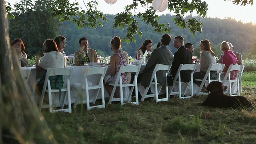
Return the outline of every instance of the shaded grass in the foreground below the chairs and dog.
{"type": "MultiPolygon", "coordinates": [[[[255,82],[243,81],[241,96],[256,105],[255,82]]],[[[60,144],[253,144],[256,111],[198,106],[207,96],[148,100],[139,105],[106,104],[106,108],[72,114],[44,110],[60,144]]],[[[106,100],[106,103],[108,101],[106,100]]]]}

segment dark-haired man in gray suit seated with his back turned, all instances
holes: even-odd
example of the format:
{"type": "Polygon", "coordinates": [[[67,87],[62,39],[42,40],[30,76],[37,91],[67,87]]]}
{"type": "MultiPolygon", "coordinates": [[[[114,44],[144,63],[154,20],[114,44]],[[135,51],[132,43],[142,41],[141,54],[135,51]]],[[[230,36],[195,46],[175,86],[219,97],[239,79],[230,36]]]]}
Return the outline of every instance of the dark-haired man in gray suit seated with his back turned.
{"type": "MultiPolygon", "coordinates": [[[[172,64],[173,54],[167,48],[171,40],[172,40],[172,37],[170,36],[170,34],[164,34],[161,39],[161,46],[153,50],[150,58],[148,59],[146,67],[142,71],[143,73],[141,78],[142,86],[144,87],[150,86],[150,79],[156,64],[165,64],[165,65],[172,64]]],[[[166,78],[165,78],[164,70],[158,71],[156,73],[156,76],[157,76],[157,81],[163,86],[166,86],[166,78]]]]}

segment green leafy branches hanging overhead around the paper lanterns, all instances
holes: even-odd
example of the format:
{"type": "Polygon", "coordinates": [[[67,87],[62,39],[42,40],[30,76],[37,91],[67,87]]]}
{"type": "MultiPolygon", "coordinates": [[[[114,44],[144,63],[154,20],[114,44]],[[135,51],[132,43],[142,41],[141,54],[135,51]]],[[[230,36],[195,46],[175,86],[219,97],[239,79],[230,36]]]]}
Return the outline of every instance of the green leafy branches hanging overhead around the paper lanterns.
{"type": "MultiPolygon", "coordinates": [[[[86,6],[86,10],[81,10],[79,8],[78,2],[70,3],[68,0],[51,0],[52,3],[49,11],[52,12],[52,16],[58,17],[61,22],[65,20],[72,21],[78,25],[78,28],[82,27],[92,27],[97,28],[102,25],[102,21],[107,21],[106,15],[97,10],[98,2],[97,0],[91,0],[86,6]]],[[[136,42],[134,36],[139,34],[142,37],[142,31],[139,29],[138,22],[136,18],[141,21],[146,22],[155,32],[160,33],[170,33],[169,24],[159,23],[159,16],[156,15],[155,10],[150,6],[153,0],[133,0],[132,3],[124,8],[124,12],[116,14],[113,22],[113,27],[121,29],[126,29],[126,37],[123,41],[130,43],[136,42]],[[136,7],[142,6],[145,12],[138,12],[135,14],[136,7]]],[[[226,1],[226,0],[225,0],[226,1]]],[[[230,1],[230,0],[228,0],[230,1]]],[[[253,0],[232,0],[233,4],[240,4],[242,6],[246,4],[253,4],[253,0]]],[[[7,11],[12,10],[8,6],[7,11]]],[[[196,18],[185,18],[185,14],[191,14],[196,11],[198,16],[205,17],[208,10],[208,5],[206,2],[201,0],[168,0],[168,10],[174,12],[176,26],[181,28],[189,28],[190,32],[194,36],[195,32],[202,32],[203,23],[200,19],[196,18]]],[[[9,15],[10,17],[13,17],[9,15]]]]}

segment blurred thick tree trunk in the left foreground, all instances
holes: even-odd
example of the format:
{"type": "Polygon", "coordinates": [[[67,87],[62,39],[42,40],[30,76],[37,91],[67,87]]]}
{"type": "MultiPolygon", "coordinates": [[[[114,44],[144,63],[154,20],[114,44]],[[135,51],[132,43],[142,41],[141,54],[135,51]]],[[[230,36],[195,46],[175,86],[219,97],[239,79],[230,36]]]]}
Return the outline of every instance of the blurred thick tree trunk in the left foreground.
{"type": "Polygon", "coordinates": [[[55,144],[10,48],[8,29],[6,6],[0,0],[0,136],[21,144],[55,144]]]}

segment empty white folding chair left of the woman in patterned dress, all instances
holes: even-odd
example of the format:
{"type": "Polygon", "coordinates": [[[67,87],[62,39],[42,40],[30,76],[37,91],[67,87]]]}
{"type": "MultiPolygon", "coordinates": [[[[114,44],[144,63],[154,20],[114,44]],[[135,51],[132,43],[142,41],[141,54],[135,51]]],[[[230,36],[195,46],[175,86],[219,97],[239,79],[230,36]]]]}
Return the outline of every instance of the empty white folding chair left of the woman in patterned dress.
{"type": "Polygon", "coordinates": [[[86,68],[86,71],[84,73],[84,77],[82,79],[81,83],[74,83],[75,88],[78,90],[78,95],[76,96],[76,101],[74,103],[73,108],[76,108],[77,104],[85,104],[87,106],[87,110],[90,110],[92,108],[105,108],[105,96],[104,96],[104,76],[106,74],[106,71],[108,69],[108,66],[105,67],[93,67],[93,68],[86,68]],[[100,74],[100,80],[96,82],[95,84],[88,84],[88,76],[100,74]],[[82,93],[82,90],[86,90],[85,92],[85,100],[82,93]],[[89,98],[89,90],[96,90],[96,95],[94,95],[93,99],[90,100],[89,98]],[[101,99],[102,104],[96,105],[96,106],[90,106],[90,103],[92,102],[95,104],[99,92],[101,91],[101,99]]]}

